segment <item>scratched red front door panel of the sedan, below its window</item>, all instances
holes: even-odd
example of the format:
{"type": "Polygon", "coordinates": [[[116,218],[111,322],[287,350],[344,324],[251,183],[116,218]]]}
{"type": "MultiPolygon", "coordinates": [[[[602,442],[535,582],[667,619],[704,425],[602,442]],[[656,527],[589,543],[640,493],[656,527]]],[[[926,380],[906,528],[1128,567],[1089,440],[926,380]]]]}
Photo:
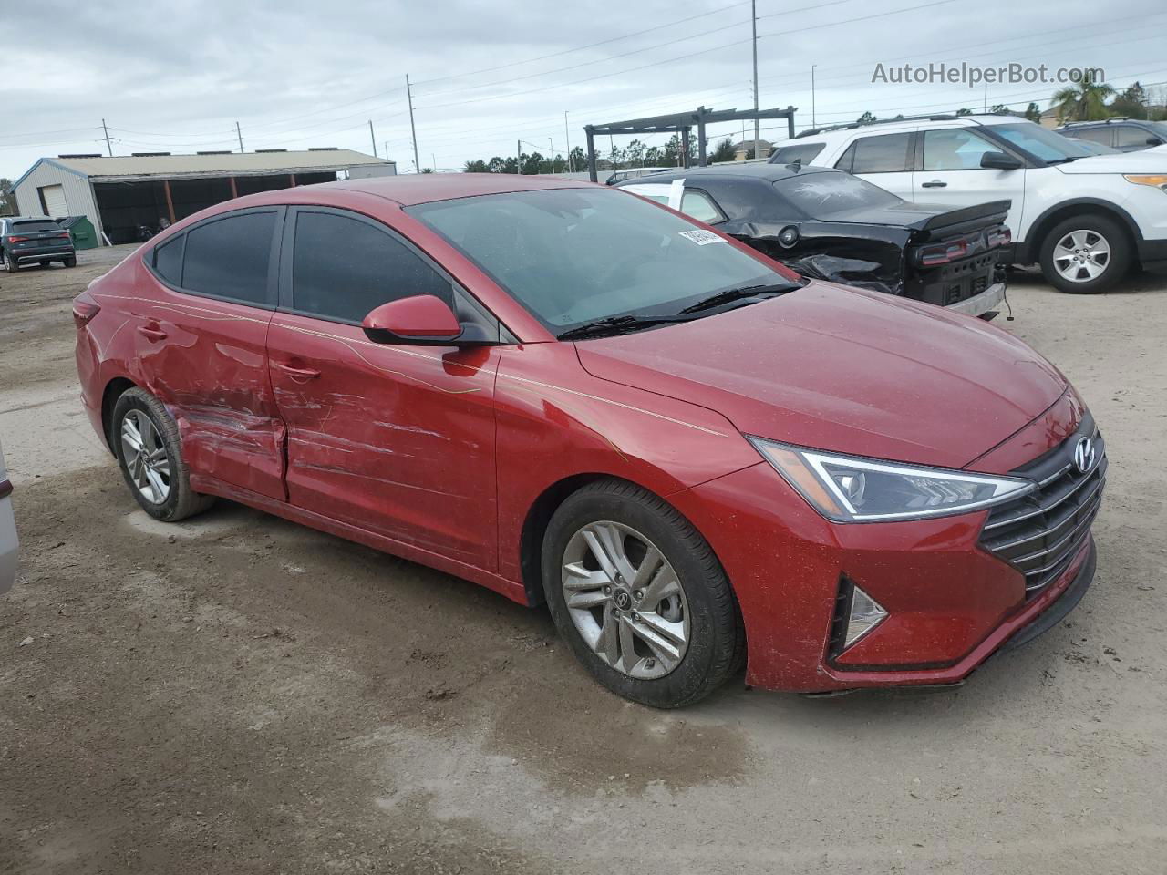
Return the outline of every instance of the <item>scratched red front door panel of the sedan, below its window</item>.
{"type": "Polygon", "coordinates": [[[287,313],[268,345],[293,504],[496,567],[496,348],[378,344],[357,327],[287,313]]]}

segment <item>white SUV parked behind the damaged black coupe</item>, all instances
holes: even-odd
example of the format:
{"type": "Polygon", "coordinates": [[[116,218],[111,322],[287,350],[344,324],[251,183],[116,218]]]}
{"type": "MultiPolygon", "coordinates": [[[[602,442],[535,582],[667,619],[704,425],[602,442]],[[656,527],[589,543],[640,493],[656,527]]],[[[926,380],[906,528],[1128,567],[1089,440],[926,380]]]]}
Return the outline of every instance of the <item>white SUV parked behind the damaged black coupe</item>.
{"type": "Polygon", "coordinates": [[[837,167],[921,203],[1009,198],[1009,260],[1062,292],[1167,267],[1167,155],[1092,155],[1015,116],[930,116],[804,131],[771,163],[837,167]]]}

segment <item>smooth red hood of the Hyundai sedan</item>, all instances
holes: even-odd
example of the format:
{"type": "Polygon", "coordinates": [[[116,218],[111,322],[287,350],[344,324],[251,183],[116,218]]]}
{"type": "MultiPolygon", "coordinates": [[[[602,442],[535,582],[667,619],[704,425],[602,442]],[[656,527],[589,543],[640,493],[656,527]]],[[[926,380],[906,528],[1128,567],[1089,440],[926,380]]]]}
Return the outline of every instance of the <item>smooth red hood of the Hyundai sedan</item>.
{"type": "Polygon", "coordinates": [[[827,282],[576,349],[593,376],[718,411],[745,434],[949,468],[1067,388],[983,321],[827,282]]]}

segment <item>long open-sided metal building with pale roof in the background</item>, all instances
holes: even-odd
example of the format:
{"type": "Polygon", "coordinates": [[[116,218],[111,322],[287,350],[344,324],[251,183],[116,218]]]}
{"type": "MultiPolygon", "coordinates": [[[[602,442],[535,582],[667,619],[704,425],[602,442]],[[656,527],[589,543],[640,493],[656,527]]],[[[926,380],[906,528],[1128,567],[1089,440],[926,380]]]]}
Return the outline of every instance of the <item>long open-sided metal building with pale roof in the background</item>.
{"type": "Polygon", "coordinates": [[[22,216],[85,216],[99,238],[134,243],[141,225],[158,231],[207,206],[257,191],[333,182],[358,175],[393,175],[397,164],[349,149],[140,153],[42,158],[16,180],[22,216]]]}

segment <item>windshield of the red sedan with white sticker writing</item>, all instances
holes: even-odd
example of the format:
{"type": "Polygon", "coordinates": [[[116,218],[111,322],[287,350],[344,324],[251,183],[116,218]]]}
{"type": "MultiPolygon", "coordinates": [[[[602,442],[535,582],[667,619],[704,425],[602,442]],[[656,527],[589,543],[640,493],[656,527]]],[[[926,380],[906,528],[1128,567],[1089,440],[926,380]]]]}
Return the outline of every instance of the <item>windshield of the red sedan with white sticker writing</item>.
{"type": "Polygon", "coordinates": [[[613,316],[675,315],[728,288],[794,285],[712,231],[626,191],[520,191],[407,211],[557,335],[613,316]]]}

